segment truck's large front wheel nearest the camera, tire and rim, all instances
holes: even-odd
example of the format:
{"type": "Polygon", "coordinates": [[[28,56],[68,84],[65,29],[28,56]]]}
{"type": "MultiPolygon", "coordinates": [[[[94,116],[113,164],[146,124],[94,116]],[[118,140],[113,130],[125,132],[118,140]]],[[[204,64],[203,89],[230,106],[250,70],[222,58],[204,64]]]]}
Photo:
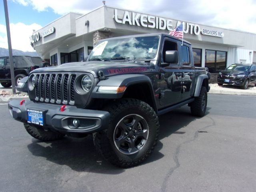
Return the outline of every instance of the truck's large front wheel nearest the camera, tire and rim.
{"type": "Polygon", "coordinates": [[[110,105],[108,130],[93,134],[94,145],[111,164],[132,167],[153,152],[158,140],[158,116],[152,107],[136,99],[122,99],[110,105]]]}

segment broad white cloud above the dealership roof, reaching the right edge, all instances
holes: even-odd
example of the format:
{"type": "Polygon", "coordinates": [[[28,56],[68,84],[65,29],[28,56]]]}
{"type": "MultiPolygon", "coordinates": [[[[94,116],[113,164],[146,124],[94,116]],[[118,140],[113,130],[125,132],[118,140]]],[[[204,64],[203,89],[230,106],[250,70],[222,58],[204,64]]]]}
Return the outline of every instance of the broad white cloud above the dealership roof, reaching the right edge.
{"type": "MultiPolygon", "coordinates": [[[[86,13],[102,6],[101,0],[12,0],[38,12],[86,13]]],[[[156,14],[222,28],[256,33],[255,0],[107,0],[107,6],[156,14]]]]}

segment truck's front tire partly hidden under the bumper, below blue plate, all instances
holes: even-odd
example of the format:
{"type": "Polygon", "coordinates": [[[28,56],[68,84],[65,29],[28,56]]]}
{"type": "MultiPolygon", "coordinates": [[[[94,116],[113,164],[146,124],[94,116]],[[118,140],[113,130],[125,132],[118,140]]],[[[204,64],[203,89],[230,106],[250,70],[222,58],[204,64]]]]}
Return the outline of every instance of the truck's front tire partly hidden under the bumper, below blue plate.
{"type": "Polygon", "coordinates": [[[54,141],[64,137],[64,134],[37,128],[36,126],[24,123],[26,131],[34,138],[41,141],[54,141]]]}

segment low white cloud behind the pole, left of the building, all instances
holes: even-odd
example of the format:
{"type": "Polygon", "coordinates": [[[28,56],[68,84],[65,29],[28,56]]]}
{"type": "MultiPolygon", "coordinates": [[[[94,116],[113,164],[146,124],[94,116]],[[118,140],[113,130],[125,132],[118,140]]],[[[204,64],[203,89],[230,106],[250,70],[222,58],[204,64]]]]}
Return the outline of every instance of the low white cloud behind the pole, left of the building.
{"type": "MultiPolygon", "coordinates": [[[[33,30],[38,30],[42,26],[34,23],[31,25],[25,25],[24,23],[10,24],[10,33],[12,41],[12,49],[18,49],[22,51],[34,51],[30,45],[30,35],[33,30]]],[[[6,33],[6,26],[0,24],[0,47],[8,49],[8,40],[6,33]]]]}

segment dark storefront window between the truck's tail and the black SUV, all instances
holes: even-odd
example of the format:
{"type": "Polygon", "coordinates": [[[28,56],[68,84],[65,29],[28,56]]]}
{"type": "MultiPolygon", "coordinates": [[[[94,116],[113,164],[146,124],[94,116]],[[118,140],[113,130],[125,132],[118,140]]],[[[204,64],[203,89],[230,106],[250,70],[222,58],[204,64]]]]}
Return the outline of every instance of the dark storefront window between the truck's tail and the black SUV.
{"type": "Polygon", "coordinates": [[[226,68],[227,52],[205,50],[205,66],[208,67],[209,72],[217,73],[226,68]]]}

